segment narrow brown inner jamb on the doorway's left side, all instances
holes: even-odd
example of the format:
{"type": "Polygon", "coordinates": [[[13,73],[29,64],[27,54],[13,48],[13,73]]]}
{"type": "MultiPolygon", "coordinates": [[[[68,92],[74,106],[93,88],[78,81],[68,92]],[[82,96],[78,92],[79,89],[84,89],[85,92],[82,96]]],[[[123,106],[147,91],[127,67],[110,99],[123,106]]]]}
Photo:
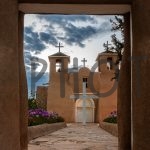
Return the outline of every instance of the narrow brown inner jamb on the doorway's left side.
{"type": "Polygon", "coordinates": [[[19,54],[19,91],[20,91],[20,146],[22,150],[27,149],[27,126],[28,126],[28,90],[24,65],[23,50],[23,31],[24,31],[24,14],[19,13],[19,35],[18,35],[18,54],[19,54]]]}

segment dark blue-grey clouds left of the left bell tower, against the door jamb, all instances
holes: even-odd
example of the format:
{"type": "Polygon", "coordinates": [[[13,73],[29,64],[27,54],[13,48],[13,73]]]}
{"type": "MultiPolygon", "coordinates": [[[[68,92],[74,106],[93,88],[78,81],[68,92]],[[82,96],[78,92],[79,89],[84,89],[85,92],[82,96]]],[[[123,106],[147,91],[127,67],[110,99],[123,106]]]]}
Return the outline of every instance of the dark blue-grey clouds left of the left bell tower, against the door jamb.
{"type": "Polygon", "coordinates": [[[31,72],[31,69],[32,71],[36,70],[40,66],[39,58],[33,54],[41,53],[45,50],[46,43],[52,42],[52,40],[56,42],[47,33],[33,31],[32,26],[24,28],[24,62],[27,72],[31,72]]]}

